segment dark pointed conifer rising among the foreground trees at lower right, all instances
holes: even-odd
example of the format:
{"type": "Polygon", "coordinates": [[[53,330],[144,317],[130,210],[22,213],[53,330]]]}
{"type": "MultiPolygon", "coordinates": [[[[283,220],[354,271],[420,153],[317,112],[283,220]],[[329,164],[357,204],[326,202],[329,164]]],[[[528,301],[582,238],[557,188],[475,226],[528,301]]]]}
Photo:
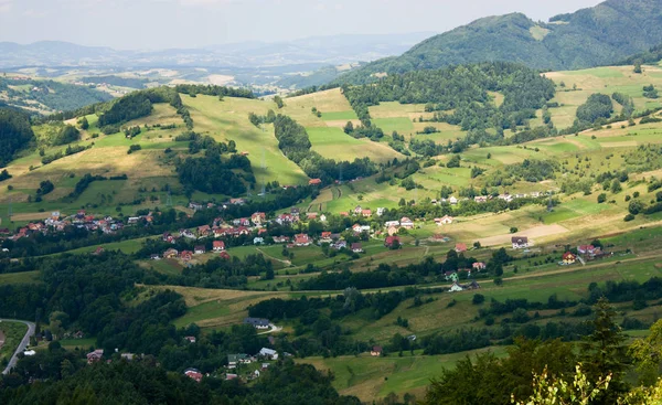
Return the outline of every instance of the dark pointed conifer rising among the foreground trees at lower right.
{"type": "Polygon", "coordinates": [[[617,397],[628,388],[622,380],[627,370],[626,337],[616,323],[616,311],[607,298],[598,300],[594,312],[595,318],[590,321],[594,332],[579,345],[581,362],[591,381],[611,375],[609,387],[599,395],[596,404],[616,404],[617,397]]]}

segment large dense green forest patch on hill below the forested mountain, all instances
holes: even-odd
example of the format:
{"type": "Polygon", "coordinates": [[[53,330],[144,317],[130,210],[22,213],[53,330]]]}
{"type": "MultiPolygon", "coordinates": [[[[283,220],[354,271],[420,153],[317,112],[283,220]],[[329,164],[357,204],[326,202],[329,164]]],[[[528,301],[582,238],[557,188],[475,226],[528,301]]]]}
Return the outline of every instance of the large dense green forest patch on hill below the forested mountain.
{"type": "Polygon", "coordinates": [[[439,111],[435,119],[459,125],[463,130],[514,128],[535,117],[554,97],[554,83],[527,67],[511,63],[481,63],[389,75],[373,85],[343,86],[343,93],[364,126],[367,107],[381,102],[426,104],[439,111]],[[500,106],[489,92],[504,99],[500,106]],[[445,113],[451,111],[451,113],[445,113]]]}

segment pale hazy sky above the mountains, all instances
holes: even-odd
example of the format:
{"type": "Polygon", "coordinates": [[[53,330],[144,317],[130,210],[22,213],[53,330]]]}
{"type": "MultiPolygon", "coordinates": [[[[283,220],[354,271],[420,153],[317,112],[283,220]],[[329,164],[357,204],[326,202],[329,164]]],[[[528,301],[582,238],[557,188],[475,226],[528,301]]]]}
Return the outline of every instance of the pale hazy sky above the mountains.
{"type": "Polygon", "coordinates": [[[0,0],[0,41],[197,47],[340,33],[444,32],[481,17],[534,20],[599,0],[0,0]]]}

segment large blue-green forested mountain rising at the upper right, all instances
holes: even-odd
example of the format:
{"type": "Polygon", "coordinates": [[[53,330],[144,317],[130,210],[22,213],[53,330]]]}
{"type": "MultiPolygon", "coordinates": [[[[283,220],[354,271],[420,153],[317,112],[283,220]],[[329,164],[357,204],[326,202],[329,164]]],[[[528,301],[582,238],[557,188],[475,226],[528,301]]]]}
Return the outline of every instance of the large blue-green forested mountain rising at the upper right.
{"type": "Polygon", "coordinates": [[[383,58],[341,76],[363,83],[375,73],[484,61],[541,70],[575,70],[613,63],[662,42],[661,0],[607,0],[595,8],[534,22],[521,13],[488,17],[433,36],[398,57],[383,58]]]}

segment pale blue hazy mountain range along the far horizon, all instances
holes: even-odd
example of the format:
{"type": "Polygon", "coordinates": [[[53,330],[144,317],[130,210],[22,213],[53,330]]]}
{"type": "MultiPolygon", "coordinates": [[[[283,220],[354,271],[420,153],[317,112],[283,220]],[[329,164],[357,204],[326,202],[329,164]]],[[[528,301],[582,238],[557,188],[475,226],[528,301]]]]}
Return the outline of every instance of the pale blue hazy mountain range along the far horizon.
{"type": "Polygon", "coordinates": [[[430,32],[314,36],[275,43],[245,42],[197,49],[118,51],[68,42],[0,42],[0,68],[20,66],[182,66],[258,67],[332,65],[398,55],[430,32]]]}

